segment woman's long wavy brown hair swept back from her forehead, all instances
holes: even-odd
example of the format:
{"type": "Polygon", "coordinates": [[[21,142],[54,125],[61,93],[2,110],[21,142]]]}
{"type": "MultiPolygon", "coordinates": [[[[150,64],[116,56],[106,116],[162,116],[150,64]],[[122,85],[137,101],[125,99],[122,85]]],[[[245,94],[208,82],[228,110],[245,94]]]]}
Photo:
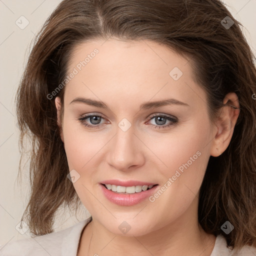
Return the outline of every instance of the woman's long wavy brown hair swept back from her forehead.
{"type": "MultiPolygon", "coordinates": [[[[31,233],[52,232],[62,203],[80,204],[67,178],[54,97],[47,95],[64,80],[75,45],[111,36],[152,40],[191,57],[196,81],[207,92],[212,121],[225,94],[237,94],[240,114],[227,149],[209,158],[200,187],[198,221],[206,232],[222,233],[230,246],[255,245],[256,70],[240,26],[219,0],[60,2],[35,39],[16,96],[20,145],[24,146],[24,135],[32,142],[31,195],[22,216],[31,233]],[[221,23],[226,16],[234,22],[230,28],[221,23]],[[234,226],[229,234],[220,228],[226,220],[234,226]]],[[[64,87],[57,94],[62,105],[63,94],[64,87]]]]}

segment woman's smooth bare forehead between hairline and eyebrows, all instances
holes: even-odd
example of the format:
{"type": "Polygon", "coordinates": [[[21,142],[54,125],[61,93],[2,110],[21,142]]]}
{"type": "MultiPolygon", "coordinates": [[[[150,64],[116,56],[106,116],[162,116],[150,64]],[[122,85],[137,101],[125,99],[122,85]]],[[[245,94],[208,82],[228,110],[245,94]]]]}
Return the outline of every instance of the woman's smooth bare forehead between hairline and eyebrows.
{"type": "MultiPolygon", "coordinates": [[[[76,45],[67,74],[65,98],[91,96],[134,103],[166,96],[191,102],[205,98],[195,83],[189,58],[165,45],[139,40],[85,41],[76,45]]],[[[203,102],[201,102],[203,103],[203,102]]],[[[189,104],[189,103],[188,103],[189,104]]]]}

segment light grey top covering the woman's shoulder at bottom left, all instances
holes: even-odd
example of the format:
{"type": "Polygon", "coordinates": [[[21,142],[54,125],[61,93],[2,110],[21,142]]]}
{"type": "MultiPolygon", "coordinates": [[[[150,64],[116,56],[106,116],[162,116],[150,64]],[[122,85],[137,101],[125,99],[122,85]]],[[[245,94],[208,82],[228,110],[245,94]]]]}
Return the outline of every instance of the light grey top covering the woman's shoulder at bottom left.
{"type": "Polygon", "coordinates": [[[80,233],[89,221],[90,217],[57,232],[8,242],[0,246],[0,256],[70,256],[76,252],[80,233]]]}

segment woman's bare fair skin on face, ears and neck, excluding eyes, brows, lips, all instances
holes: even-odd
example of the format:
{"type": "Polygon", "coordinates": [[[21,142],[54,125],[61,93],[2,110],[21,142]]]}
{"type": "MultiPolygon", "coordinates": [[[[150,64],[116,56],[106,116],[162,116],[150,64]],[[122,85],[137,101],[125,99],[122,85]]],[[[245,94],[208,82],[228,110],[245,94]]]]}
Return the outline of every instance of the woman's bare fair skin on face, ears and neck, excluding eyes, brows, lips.
{"type": "MultiPolygon", "coordinates": [[[[198,225],[198,192],[210,155],[218,156],[227,148],[239,110],[226,105],[221,119],[210,123],[206,93],[195,83],[189,59],[151,41],[84,42],[76,47],[68,73],[94,48],[99,52],[65,85],[63,118],[59,97],[55,99],[69,170],[80,175],[73,185],[93,218],[82,232],[77,255],[88,251],[88,255],[210,255],[215,236],[198,225]],[[177,80],[169,75],[174,67],[183,73],[177,80]],[[75,97],[101,100],[110,110],[70,104],[75,97]],[[189,106],[139,110],[142,103],[166,98],[189,106]],[[93,125],[90,119],[81,123],[77,118],[88,113],[103,115],[99,120],[103,124],[85,127],[84,123],[93,125]],[[154,128],[171,123],[150,119],[156,113],[178,122],[154,128]],[[118,127],[123,118],[131,124],[127,131],[118,127]],[[145,199],[120,206],[108,201],[100,189],[104,179],[161,186],[197,151],[200,156],[154,202],[145,199]],[[126,234],[118,228],[123,221],[131,227],[126,234]]],[[[235,93],[228,93],[223,103],[227,101],[239,107],[235,93]]]]}

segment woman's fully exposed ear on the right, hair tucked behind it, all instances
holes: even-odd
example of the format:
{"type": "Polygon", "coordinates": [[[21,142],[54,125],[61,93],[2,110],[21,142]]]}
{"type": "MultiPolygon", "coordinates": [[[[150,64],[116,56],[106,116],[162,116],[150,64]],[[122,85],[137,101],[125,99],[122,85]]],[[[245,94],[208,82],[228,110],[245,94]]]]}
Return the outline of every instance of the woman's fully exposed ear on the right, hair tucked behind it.
{"type": "Polygon", "coordinates": [[[219,156],[229,145],[240,112],[239,109],[236,109],[240,105],[234,92],[229,92],[225,95],[223,104],[224,106],[221,107],[220,114],[215,122],[217,132],[210,148],[212,156],[219,156]]]}

